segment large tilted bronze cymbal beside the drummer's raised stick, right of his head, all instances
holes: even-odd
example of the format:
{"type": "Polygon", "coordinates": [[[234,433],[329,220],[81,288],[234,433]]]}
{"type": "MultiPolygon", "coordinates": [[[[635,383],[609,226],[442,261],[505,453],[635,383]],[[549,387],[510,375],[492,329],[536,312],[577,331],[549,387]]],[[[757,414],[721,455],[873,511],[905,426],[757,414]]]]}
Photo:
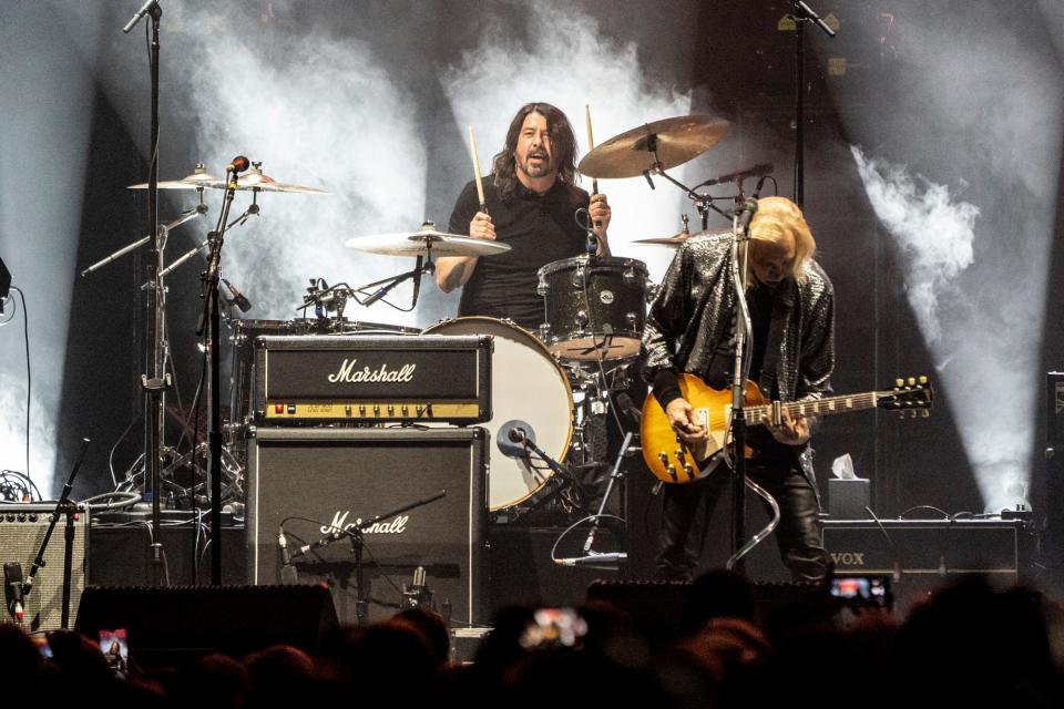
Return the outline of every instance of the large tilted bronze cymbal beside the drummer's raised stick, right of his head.
{"type": "Polygon", "coordinates": [[[577,169],[589,177],[637,177],[698,157],[717,144],[728,122],[710,115],[664,119],[625,131],[584,155],[577,169]],[[655,157],[656,154],[656,157],[655,157]]]}

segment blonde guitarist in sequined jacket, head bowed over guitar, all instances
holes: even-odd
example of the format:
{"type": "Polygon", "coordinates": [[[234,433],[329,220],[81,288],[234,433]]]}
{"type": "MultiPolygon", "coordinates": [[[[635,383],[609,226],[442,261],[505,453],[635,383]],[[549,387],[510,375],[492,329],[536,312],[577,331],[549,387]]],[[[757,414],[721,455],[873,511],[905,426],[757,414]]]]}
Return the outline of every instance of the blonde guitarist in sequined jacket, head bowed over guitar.
{"type": "MultiPolygon", "coordinates": [[[[831,281],[812,259],[816,242],[801,210],[784,197],[758,201],[749,233],[749,380],[765,399],[819,399],[831,391],[835,308],[831,281]]],[[[651,306],[643,337],[644,377],[653,384],[652,395],[664,409],[667,425],[681,440],[704,450],[719,449],[723,442],[705,445],[712,443],[708,421],[684,398],[679,374],[695,374],[713,389],[726,389],[732,381],[736,308],[732,238],[696,235],[679,247],[651,306]]],[[[822,578],[829,571],[809,438],[810,420],[786,409],[778,423],[747,431],[747,445],[754,450],[747,475],[778,501],[780,557],[791,576],[801,580],[822,578]]],[[[709,518],[728,481],[728,471],[720,466],[694,482],[664,486],[656,562],[661,578],[694,575],[709,518]]]]}

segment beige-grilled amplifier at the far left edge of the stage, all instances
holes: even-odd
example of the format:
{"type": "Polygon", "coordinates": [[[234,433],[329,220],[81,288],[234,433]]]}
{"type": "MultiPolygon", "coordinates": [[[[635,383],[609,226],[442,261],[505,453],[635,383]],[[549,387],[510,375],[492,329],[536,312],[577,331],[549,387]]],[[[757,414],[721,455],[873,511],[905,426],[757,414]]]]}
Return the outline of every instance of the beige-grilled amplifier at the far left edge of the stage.
{"type": "MultiPolygon", "coordinates": [[[[41,542],[48,531],[51,514],[42,512],[44,505],[3,504],[0,505],[0,562],[19,563],[22,577],[28,578],[41,542]]],[[[23,619],[20,624],[29,633],[55,630],[62,627],[63,616],[63,556],[65,549],[65,516],[60,516],[55,530],[44,551],[44,565],[33,578],[33,588],[23,603],[23,619]]],[[[74,520],[74,543],[72,547],[70,579],[70,623],[78,615],[78,604],[85,587],[85,558],[88,546],[89,515],[78,514],[74,520]]],[[[6,589],[7,590],[7,589],[6,589]]],[[[7,593],[4,594],[7,597],[7,593]]],[[[7,607],[2,612],[3,623],[14,623],[7,607]]]]}

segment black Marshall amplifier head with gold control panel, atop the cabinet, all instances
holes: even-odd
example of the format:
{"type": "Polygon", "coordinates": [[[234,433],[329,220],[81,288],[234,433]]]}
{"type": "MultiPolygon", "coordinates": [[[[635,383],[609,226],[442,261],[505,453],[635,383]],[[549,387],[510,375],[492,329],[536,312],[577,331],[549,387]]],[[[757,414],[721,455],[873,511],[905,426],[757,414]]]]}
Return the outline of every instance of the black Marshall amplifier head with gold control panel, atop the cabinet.
{"type": "Polygon", "coordinates": [[[259,425],[491,419],[485,335],[255,340],[259,425]]]}

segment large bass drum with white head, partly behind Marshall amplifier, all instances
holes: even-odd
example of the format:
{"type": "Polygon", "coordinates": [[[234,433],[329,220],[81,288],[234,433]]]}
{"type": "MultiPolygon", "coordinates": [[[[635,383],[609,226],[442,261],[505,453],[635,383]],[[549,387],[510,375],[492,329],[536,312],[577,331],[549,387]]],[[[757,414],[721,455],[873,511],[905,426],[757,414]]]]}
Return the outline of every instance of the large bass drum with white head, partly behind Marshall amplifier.
{"type": "Polygon", "coordinates": [[[573,436],[573,391],[565,373],[542,342],[528,330],[505,320],[484,317],[443,320],[426,329],[424,335],[494,337],[492,418],[480,424],[491,435],[488,507],[497,512],[524,502],[554,473],[534,454],[534,469],[523,459],[507,456],[497,443],[499,429],[514,421],[529,424],[529,438],[548,455],[562,461],[573,436]]]}

